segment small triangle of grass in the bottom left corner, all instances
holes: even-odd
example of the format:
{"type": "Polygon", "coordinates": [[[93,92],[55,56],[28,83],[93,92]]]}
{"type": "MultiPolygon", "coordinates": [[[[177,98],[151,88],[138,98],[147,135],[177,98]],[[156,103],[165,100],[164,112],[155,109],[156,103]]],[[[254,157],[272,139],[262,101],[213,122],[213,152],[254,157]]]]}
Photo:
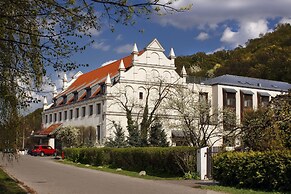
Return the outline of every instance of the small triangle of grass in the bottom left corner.
{"type": "Polygon", "coordinates": [[[18,186],[17,182],[10,178],[1,168],[0,168],[0,193],[26,194],[26,192],[18,186]]]}

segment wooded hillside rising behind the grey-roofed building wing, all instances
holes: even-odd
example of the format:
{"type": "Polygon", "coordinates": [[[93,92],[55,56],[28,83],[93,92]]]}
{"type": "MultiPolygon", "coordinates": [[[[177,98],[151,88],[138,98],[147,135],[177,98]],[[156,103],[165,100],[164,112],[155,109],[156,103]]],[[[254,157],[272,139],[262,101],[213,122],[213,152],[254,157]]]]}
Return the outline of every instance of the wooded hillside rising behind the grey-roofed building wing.
{"type": "Polygon", "coordinates": [[[176,65],[178,72],[184,65],[190,76],[233,74],[291,83],[291,25],[280,25],[245,47],[177,57],[176,65]]]}

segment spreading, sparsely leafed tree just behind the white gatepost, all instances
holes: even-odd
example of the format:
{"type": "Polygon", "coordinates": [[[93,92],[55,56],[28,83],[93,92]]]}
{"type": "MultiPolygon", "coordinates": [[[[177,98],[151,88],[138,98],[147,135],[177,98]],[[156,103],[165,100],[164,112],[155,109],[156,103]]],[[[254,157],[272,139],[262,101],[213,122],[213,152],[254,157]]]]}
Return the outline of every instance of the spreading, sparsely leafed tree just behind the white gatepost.
{"type": "Polygon", "coordinates": [[[167,108],[177,115],[177,121],[170,125],[183,132],[188,145],[212,146],[223,138],[238,135],[235,113],[214,109],[207,100],[199,98],[199,93],[179,86],[168,98],[167,108]]]}

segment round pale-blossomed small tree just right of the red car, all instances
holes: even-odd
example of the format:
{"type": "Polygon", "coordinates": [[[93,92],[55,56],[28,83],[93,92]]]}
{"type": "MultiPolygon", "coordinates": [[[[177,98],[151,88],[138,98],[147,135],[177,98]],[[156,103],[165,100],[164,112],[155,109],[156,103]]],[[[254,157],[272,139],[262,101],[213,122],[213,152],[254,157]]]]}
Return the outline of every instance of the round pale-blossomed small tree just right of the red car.
{"type": "Polygon", "coordinates": [[[56,139],[61,141],[62,147],[78,147],[80,141],[80,129],[67,126],[61,127],[56,133],[56,139]]]}

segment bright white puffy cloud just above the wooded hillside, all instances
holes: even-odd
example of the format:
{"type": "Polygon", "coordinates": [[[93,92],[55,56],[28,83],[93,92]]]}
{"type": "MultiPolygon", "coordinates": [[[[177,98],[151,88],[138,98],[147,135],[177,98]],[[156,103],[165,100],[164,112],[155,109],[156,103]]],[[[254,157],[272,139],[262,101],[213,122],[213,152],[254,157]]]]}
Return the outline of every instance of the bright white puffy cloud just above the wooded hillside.
{"type": "Polygon", "coordinates": [[[258,20],[257,22],[243,21],[238,31],[232,31],[227,27],[220,41],[236,47],[238,45],[244,45],[248,39],[259,37],[260,34],[265,34],[269,31],[271,30],[268,28],[268,22],[266,20],[258,20]]]}

